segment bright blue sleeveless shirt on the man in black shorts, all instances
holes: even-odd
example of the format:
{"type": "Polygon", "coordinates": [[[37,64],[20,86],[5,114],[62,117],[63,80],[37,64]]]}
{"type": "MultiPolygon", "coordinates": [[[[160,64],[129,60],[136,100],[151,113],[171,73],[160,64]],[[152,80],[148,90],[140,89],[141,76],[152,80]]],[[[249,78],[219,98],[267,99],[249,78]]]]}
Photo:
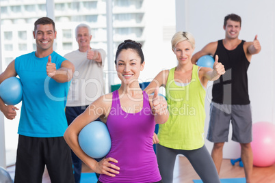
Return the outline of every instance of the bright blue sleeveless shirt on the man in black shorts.
{"type": "MultiPolygon", "coordinates": [[[[66,60],[51,53],[59,69],[66,60]]],[[[65,107],[70,82],[57,83],[46,72],[48,57],[38,58],[35,52],[15,59],[14,68],[23,85],[23,100],[18,134],[28,137],[63,137],[68,127],[65,107]]]]}

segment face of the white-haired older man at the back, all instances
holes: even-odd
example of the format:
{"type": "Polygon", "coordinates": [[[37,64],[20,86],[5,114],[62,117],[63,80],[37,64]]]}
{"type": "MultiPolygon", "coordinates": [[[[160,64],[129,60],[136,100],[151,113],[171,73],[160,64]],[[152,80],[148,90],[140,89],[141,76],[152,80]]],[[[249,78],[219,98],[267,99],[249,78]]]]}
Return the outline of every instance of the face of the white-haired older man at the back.
{"type": "Polygon", "coordinates": [[[88,28],[79,27],[77,29],[77,43],[81,50],[88,49],[90,46],[90,41],[92,40],[92,35],[90,35],[88,28]]]}

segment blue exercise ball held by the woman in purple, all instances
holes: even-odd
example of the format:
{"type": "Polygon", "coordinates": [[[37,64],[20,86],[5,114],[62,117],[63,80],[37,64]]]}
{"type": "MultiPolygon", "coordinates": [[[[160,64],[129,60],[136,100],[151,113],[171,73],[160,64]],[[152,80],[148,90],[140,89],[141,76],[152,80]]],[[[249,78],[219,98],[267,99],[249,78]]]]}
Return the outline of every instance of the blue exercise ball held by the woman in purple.
{"type": "Polygon", "coordinates": [[[103,158],[111,149],[111,137],[106,124],[99,121],[86,125],[78,136],[81,149],[92,158],[103,158]]]}

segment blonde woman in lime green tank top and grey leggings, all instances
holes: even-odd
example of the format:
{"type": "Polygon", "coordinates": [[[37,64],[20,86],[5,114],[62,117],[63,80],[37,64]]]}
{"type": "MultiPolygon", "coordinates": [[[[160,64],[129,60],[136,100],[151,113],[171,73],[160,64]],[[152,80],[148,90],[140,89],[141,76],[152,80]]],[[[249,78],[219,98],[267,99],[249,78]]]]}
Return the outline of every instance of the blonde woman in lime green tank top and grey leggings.
{"type": "Polygon", "coordinates": [[[175,33],[171,44],[178,65],[159,72],[145,89],[152,94],[156,87],[166,88],[170,116],[166,124],[159,125],[155,137],[159,142],[157,160],[163,183],[172,182],[178,154],[188,158],[203,182],[220,182],[204,141],[205,89],[208,81],[215,81],[225,73],[224,66],[218,62],[218,56],[213,69],[192,64],[195,40],[191,33],[175,33]]]}

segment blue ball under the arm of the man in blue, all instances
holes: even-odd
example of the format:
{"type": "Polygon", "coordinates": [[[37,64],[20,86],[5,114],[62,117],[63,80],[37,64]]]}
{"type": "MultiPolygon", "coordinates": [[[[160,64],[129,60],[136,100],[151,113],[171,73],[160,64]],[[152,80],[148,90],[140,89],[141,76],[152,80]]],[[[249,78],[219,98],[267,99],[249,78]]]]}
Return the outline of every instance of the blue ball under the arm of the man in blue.
{"type": "Polygon", "coordinates": [[[23,88],[20,79],[10,77],[0,85],[0,96],[7,105],[16,105],[23,98],[23,88]]]}

